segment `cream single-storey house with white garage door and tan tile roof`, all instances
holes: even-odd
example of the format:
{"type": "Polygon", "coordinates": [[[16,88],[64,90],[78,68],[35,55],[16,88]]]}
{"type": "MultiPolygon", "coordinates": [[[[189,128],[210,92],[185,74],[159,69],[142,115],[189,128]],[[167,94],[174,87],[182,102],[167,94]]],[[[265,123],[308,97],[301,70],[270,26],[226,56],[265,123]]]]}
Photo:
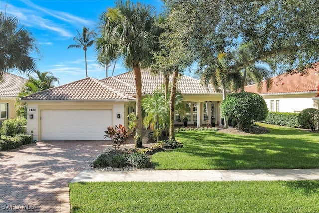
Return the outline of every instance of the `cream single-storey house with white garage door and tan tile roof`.
{"type": "MultiPolygon", "coordinates": [[[[142,95],[162,86],[162,75],[141,71],[142,95]]],[[[180,76],[178,89],[188,106],[189,124],[206,124],[211,116],[221,120],[221,93],[199,80],[180,76]],[[199,110],[198,110],[199,109],[199,110]]],[[[27,103],[27,133],[35,140],[103,140],[107,126],[125,124],[135,109],[133,72],[97,80],[85,78],[21,98],[27,103]]],[[[182,122],[176,114],[175,124],[182,122]]]]}

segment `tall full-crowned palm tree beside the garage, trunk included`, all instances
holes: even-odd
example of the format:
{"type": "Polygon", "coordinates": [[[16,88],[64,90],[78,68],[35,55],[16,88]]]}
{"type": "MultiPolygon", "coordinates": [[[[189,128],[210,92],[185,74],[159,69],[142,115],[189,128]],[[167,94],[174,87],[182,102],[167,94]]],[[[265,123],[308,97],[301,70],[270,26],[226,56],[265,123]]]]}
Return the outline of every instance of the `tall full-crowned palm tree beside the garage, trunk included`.
{"type": "Polygon", "coordinates": [[[142,80],[140,68],[151,64],[157,27],[154,22],[155,8],[152,5],[116,1],[116,8],[108,10],[105,25],[101,30],[101,63],[109,65],[111,61],[123,57],[124,66],[133,68],[136,88],[137,129],[135,146],[142,147],[142,80]]]}

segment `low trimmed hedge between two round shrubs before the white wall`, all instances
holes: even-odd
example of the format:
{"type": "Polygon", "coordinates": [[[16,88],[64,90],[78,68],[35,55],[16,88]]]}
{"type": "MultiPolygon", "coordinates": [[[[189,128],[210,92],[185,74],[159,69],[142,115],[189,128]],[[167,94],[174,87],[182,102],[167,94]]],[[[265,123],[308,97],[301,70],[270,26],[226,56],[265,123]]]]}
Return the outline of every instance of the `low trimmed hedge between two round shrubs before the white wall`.
{"type": "Polygon", "coordinates": [[[268,112],[268,116],[263,123],[300,128],[298,115],[299,113],[292,112],[268,112]]]}

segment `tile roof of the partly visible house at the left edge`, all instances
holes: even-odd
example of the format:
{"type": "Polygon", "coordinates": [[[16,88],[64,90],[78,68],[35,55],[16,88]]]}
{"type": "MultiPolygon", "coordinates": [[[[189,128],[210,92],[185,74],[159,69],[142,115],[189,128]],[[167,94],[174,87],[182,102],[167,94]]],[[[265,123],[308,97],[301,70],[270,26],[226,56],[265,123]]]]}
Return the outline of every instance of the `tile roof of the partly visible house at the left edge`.
{"type": "Polygon", "coordinates": [[[4,72],[3,82],[0,81],[0,97],[16,97],[26,81],[25,78],[4,72]]]}

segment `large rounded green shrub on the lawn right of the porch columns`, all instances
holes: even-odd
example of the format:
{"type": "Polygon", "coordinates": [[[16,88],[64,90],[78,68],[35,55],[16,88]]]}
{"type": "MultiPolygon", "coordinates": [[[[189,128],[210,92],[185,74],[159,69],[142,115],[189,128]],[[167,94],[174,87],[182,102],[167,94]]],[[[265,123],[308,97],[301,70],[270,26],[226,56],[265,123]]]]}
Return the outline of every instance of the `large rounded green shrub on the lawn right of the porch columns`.
{"type": "Polygon", "coordinates": [[[268,114],[267,104],[261,95],[251,92],[234,93],[221,104],[223,116],[234,118],[237,127],[249,129],[255,121],[263,121],[268,114]]]}

